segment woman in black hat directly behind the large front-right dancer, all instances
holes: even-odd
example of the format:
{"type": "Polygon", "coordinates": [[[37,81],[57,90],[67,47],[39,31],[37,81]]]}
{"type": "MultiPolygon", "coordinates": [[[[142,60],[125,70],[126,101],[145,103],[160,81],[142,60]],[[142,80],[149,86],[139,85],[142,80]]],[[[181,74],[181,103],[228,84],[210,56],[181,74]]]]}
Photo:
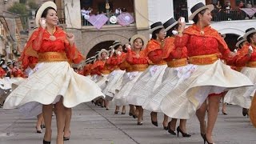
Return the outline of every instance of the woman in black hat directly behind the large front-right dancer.
{"type": "MultiPolygon", "coordinates": [[[[170,91],[178,85],[178,83],[183,82],[190,74],[191,69],[194,68],[192,65],[188,65],[186,46],[178,47],[177,49],[174,46],[174,34],[178,33],[178,22],[174,18],[170,18],[163,24],[163,26],[167,32],[167,38],[165,39],[163,46],[162,58],[167,62],[168,67],[166,68],[164,77],[162,78],[162,84],[154,90],[154,93],[150,94],[150,97],[146,99],[146,102],[144,102],[142,106],[144,109],[154,112],[162,112],[160,109],[162,98],[166,97],[166,95],[169,94],[170,91]]],[[[168,105],[176,106],[174,103],[170,103],[168,105]]],[[[174,109],[170,109],[166,112],[166,114],[168,114],[172,119],[168,123],[168,127],[164,126],[164,128],[168,130],[170,134],[176,135],[175,128],[177,118],[182,118],[182,113],[180,113],[180,115],[173,115],[173,110],[174,109]]],[[[167,118],[168,116],[165,115],[167,118]]],[[[186,133],[186,119],[180,120],[177,130],[178,132],[182,132],[183,137],[191,136],[186,133]]]]}

